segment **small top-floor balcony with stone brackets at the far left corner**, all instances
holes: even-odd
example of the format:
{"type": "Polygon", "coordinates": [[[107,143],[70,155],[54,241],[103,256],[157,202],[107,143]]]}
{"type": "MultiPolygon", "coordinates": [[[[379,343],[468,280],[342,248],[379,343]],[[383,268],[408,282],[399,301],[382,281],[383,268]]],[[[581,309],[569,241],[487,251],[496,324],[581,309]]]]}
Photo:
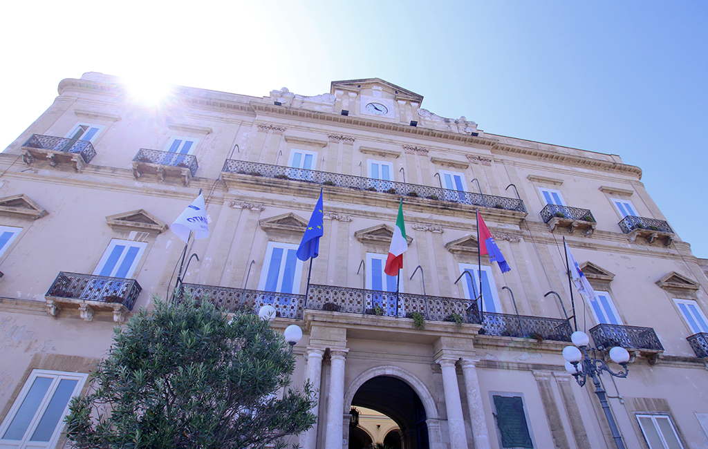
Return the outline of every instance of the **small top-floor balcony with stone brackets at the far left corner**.
{"type": "Polygon", "coordinates": [[[63,137],[32,136],[22,145],[25,151],[23,161],[28,165],[35,159],[46,159],[52,167],[70,163],[80,172],[96,156],[91,142],[87,140],[65,139],[63,137]]]}

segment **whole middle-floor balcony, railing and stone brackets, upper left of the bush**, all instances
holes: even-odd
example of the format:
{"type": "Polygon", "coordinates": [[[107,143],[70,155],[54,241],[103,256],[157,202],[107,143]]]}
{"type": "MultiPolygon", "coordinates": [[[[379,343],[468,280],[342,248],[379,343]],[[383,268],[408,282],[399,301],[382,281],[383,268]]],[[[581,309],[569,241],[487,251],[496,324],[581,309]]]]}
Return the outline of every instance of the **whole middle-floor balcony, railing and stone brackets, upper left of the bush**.
{"type": "Polygon", "coordinates": [[[135,279],[59,272],[45,295],[47,313],[59,316],[63,308],[79,308],[86,321],[98,310],[113,312],[113,321],[124,322],[142,287],[135,279]]]}

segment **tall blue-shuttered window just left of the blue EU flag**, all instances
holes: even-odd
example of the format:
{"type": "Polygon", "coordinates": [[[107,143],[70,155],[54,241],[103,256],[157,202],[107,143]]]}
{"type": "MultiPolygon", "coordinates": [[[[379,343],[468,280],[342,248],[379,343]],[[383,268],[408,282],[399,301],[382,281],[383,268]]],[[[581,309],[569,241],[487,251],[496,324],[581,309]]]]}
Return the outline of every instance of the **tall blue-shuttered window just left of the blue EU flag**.
{"type": "Polygon", "coordinates": [[[299,294],[302,262],[296,253],[297,245],[268,242],[258,290],[299,294]]]}

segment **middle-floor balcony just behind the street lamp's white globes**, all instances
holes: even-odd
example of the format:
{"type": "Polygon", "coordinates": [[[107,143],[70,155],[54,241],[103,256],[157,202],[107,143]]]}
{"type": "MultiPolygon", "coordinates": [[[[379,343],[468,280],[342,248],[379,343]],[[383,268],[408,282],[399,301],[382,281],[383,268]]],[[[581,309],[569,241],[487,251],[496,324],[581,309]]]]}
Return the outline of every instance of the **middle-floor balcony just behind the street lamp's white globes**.
{"type": "Polygon", "coordinates": [[[663,346],[651,327],[597,325],[590,329],[590,335],[598,349],[609,351],[613,346],[622,346],[632,354],[632,361],[639,354],[654,364],[663,353],[663,346]]]}

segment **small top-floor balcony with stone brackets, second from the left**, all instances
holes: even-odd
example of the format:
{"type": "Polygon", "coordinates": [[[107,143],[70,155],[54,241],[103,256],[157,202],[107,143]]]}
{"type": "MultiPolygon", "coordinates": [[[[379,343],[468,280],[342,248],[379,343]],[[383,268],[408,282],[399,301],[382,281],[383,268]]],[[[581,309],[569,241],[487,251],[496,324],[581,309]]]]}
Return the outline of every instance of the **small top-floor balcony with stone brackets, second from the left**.
{"type": "Polygon", "coordinates": [[[191,154],[147,148],[140,148],[132,160],[132,165],[135,179],[142,175],[157,175],[158,182],[164,182],[165,177],[176,177],[181,179],[185,186],[189,185],[199,168],[197,158],[191,154]]]}

